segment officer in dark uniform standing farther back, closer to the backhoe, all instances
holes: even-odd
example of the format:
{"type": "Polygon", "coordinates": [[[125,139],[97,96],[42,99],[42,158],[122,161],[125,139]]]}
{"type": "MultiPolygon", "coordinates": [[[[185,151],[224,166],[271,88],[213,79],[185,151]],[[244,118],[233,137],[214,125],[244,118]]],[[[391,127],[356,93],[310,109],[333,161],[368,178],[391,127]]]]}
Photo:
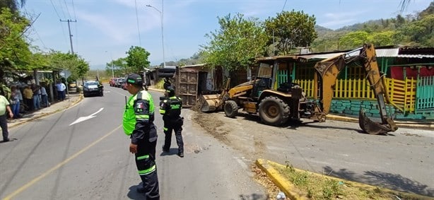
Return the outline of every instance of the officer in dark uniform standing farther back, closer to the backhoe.
{"type": "Polygon", "coordinates": [[[182,100],[175,96],[175,90],[172,86],[165,88],[166,99],[160,102],[160,114],[163,114],[164,122],[164,146],[163,151],[169,152],[172,141],[172,130],[175,131],[176,143],[178,145],[178,155],[184,157],[184,142],[182,142],[182,124],[184,117],[180,117],[182,109],[182,100]]]}

